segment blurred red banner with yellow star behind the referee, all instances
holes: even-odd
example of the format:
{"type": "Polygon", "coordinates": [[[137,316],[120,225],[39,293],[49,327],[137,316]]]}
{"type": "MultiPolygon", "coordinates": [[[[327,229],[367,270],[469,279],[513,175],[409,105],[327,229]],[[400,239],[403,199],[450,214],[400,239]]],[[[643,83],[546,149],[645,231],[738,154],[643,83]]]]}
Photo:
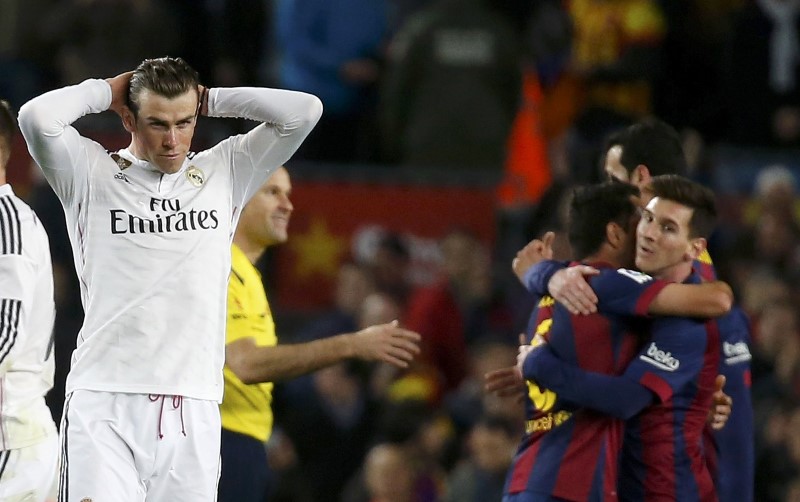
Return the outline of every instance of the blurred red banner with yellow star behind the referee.
{"type": "Polygon", "coordinates": [[[289,241],[279,246],[267,273],[271,298],[281,308],[331,305],[332,285],[345,260],[369,261],[386,232],[409,247],[410,274],[429,283],[439,260],[437,242],[463,227],[491,246],[495,232],[493,187],[427,186],[375,182],[292,182],[294,213],[289,241]]]}

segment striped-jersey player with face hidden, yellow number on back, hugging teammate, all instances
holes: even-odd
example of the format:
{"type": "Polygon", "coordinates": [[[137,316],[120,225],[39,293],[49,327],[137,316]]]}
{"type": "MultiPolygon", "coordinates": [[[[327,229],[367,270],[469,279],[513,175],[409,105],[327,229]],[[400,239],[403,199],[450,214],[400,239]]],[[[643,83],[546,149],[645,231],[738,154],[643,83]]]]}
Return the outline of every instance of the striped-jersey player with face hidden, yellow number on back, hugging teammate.
{"type": "MultiPolygon", "coordinates": [[[[562,357],[610,375],[621,372],[638,346],[630,322],[634,314],[713,315],[730,302],[727,287],[693,288],[616,270],[631,263],[637,213],[629,198],[636,192],[609,183],[576,191],[572,201],[570,243],[578,258],[601,267],[592,281],[607,291],[604,314],[572,315],[543,298],[532,315],[531,337],[543,336],[562,357]]],[[[487,387],[493,390],[491,382],[487,387]]],[[[509,472],[505,500],[616,500],[622,421],[576,408],[533,384],[528,398],[527,434],[509,472]]]]}

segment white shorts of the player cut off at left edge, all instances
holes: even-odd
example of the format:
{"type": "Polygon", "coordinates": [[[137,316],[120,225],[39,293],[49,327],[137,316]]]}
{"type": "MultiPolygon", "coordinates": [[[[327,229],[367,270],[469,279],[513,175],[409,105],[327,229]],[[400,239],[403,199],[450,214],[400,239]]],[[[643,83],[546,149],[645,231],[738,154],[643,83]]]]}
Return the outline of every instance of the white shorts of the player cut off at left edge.
{"type": "Polygon", "coordinates": [[[54,500],[58,436],[16,450],[0,451],[0,502],[54,500]]]}

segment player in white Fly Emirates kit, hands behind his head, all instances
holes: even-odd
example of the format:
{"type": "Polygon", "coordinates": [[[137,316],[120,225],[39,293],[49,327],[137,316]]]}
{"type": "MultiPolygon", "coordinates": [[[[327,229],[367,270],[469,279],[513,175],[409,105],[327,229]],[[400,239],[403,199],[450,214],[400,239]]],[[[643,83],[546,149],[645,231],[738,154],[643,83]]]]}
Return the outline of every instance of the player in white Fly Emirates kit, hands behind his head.
{"type": "Polygon", "coordinates": [[[310,94],[206,89],[169,57],[22,107],[28,148],[64,206],[86,313],[59,500],[214,500],[233,231],[321,113],[310,94]],[[122,117],[128,148],[107,152],[71,126],[105,110],[122,117]],[[198,115],[262,124],[195,154],[198,115]]]}

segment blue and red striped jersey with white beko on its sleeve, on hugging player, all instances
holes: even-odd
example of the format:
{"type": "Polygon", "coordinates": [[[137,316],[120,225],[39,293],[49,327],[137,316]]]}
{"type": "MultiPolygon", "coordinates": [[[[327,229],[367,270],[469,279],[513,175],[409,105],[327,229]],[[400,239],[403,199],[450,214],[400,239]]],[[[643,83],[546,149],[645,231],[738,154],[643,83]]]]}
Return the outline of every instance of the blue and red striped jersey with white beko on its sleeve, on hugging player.
{"type": "MultiPolygon", "coordinates": [[[[700,280],[693,273],[685,282],[700,280]]],[[[619,481],[622,500],[717,500],[702,434],[719,362],[716,321],[683,317],[653,321],[651,338],[624,374],[657,399],[626,422],[619,481]]]]}

